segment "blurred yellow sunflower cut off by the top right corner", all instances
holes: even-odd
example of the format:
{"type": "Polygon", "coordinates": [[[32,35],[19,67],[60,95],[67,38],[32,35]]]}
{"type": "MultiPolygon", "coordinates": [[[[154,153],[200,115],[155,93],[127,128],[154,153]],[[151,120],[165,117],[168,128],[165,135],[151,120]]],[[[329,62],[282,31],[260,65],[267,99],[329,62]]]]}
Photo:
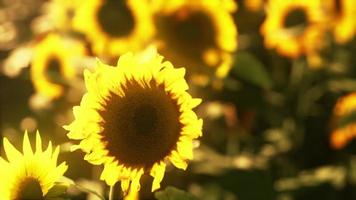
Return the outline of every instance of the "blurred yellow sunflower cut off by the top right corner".
{"type": "Polygon", "coordinates": [[[336,42],[345,43],[356,34],[356,1],[355,0],[327,0],[326,10],[333,24],[336,42]]]}

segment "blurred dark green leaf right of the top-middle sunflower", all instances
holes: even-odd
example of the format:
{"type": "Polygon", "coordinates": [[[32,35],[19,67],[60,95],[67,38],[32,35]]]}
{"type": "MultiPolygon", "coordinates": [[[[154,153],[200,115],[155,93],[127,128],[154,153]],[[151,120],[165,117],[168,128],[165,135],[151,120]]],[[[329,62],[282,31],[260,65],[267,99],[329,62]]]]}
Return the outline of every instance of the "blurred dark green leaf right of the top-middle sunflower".
{"type": "Polygon", "coordinates": [[[272,80],[263,64],[248,52],[240,51],[236,54],[232,73],[237,78],[264,89],[272,86],[272,80]]]}

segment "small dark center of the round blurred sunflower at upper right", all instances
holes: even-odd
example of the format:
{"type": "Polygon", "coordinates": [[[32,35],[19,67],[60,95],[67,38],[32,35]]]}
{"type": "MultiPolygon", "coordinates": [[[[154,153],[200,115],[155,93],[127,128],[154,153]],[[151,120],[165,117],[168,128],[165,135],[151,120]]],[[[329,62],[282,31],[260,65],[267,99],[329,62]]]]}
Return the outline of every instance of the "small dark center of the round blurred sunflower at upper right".
{"type": "Polygon", "coordinates": [[[308,24],[308,16],[303,8],[290,10],[284,19],[284,27],[293,28],[296,26],[305,27],[308,24]]]}

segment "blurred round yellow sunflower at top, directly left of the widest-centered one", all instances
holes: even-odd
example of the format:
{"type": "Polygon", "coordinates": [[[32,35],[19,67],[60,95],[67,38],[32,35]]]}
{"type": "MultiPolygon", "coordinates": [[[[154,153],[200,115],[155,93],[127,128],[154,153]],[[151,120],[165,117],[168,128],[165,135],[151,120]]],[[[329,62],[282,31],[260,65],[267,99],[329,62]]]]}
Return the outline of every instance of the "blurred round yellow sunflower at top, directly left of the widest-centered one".
{"type": "Polygon", "coordinates": [[[141,50],[151,39],[147,7],[142,0],[86,0],[76,9],[73,26],[86,35],[96,55],[116,57],[141,50]]]}

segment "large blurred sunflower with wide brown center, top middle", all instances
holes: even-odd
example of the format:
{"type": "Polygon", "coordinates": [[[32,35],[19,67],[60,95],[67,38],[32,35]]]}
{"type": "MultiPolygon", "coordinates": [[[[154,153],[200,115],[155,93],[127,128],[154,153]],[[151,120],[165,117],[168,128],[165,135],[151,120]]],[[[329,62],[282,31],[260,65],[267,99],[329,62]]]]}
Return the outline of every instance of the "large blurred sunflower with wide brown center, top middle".
{"type": "Polygon", "coordinates": [[[187,75],[224,77],[237,49],[232,0],[153,0],[158,52],[187,75]]]}

